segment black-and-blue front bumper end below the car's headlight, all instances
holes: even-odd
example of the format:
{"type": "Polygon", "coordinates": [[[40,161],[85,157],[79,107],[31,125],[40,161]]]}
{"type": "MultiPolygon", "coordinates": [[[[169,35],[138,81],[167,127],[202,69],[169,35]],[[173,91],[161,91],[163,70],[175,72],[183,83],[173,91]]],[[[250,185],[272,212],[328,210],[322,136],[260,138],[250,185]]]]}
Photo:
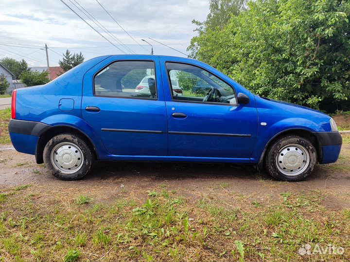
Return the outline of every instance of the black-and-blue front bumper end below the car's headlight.
{"type": "Polygon", "coordinates": [[[321,149],[320,164],[334,163],[338,160],[343,138],[339,132],[313,132],[321,149]]]}

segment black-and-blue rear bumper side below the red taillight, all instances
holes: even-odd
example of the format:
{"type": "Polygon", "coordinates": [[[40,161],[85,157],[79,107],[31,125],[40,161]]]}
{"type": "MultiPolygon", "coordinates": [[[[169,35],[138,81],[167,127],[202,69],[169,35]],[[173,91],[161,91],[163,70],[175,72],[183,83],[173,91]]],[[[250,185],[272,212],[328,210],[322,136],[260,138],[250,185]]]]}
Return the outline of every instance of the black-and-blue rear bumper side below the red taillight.
{"type": "Polygon", "coordinates": [[[8,129],[13,146],[18,152],[35,154],[40,135],[51,126],[34,121],[11,119],[8,129]]]}

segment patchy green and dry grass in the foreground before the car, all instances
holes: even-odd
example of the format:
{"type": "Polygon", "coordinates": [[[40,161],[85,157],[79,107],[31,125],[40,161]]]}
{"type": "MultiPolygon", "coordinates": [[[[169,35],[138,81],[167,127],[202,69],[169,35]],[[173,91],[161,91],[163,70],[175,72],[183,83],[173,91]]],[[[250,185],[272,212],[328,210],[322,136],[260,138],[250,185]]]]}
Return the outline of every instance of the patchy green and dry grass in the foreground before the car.
{"type": "Polygon", "coordinates": [[[84,195],[45,198],[50,189],[33,187],[35,197],[13,190],[0,202],[0,261],[284,262],[301,261],[297,250],[306,243],[350,247],[350,210],[327,210],[327,192],[285,192],[252,205],[256,199],[217,189],[227,205],[219,197],[196,202],[152,190],[142,202],[116,197],[89,207],[69,204],[86,203],[84,195]]]}

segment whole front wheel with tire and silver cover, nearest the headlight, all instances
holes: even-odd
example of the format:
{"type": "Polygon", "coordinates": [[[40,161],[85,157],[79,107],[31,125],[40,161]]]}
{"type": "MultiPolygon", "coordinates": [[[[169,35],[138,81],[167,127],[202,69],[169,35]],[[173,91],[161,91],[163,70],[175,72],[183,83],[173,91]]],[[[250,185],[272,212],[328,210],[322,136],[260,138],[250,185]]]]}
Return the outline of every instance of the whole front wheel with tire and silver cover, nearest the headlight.
{"type": "Polygon", "coordinates": [[[275,179],[300,181],[314,170],[316,160],[316,149],[309,140],[299,136],[286,136],[268,148],[265,167],[275,179]]]}

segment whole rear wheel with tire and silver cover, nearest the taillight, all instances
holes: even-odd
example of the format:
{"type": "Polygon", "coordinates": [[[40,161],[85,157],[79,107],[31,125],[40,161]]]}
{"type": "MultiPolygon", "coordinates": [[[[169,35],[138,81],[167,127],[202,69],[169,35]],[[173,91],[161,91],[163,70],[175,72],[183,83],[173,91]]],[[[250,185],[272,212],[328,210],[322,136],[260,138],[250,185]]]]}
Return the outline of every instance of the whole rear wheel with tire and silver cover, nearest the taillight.
{"type": "Polygon", "coordinates": [[[54,136],[44,148],[44,163],[60,180],[78,180],[91,169],[92,149],[80,137],[64,133],[54,136]]]}

